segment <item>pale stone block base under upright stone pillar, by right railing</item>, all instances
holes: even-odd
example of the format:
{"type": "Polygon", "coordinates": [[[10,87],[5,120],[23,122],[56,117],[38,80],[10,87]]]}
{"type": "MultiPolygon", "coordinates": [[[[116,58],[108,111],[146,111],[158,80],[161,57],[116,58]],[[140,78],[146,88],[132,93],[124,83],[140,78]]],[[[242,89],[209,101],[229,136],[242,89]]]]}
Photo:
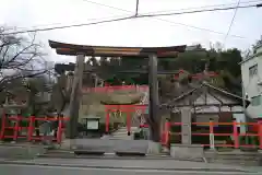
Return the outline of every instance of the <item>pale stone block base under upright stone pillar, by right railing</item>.
{"type": "Polygon", "coordinates": [[[203,160],[204,149],[199,144],[171,144],[170,155],[178,160],[203,160]]]}

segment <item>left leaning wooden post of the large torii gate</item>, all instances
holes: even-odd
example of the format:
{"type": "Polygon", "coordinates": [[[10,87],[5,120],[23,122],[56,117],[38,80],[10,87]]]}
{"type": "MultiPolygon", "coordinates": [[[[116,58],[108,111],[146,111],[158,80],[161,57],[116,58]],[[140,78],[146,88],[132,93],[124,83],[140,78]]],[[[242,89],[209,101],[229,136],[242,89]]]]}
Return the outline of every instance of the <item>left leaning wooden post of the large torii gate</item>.
{"type": "Polygon", "coordinates": [[[78,136],[79,109],[82,94],[82,81],[85,56],[79,54],[74,68],[74,78],[69,104],[69,122],[67,125],[66,137],[74,139],[78,136]]]}

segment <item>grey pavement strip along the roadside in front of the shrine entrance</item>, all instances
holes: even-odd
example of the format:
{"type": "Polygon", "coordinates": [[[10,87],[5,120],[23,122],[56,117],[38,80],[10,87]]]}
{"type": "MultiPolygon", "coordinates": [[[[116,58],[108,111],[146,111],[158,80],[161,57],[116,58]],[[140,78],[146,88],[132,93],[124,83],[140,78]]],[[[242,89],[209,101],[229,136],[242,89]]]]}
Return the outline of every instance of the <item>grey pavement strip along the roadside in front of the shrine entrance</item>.
{"type": "Polygon", "coordinates": [[[72,167],[72,168],[100,168],[100,170],[151,170],[151,171],[196,171],[196,172],[228,172],[245,173],[260,172],[260,167],[230,166],[214,163],[175,161],[175,160],[103,160],[103,159],[35,159],[1,161],[1,165],[7,166],[45,166],[45,167],[72,167]]]}

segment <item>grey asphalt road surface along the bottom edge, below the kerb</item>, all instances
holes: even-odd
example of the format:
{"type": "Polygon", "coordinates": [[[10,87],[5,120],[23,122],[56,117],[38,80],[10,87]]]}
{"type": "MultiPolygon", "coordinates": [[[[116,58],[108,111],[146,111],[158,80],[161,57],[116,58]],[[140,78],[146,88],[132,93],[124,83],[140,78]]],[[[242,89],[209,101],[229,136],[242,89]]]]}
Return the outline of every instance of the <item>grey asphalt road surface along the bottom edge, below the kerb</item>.
{"type": "Polygon", "coordinates": [[[129,168],[91,168],[91,167],[70,167],[70,166],[43,166],[43,165],[17,165],[0,164],[1,174],[8,175],[261,175],[261,173],[245,172],[206,172],[206,171],[171,171],[171,170],[129,170],[129,168]]]}

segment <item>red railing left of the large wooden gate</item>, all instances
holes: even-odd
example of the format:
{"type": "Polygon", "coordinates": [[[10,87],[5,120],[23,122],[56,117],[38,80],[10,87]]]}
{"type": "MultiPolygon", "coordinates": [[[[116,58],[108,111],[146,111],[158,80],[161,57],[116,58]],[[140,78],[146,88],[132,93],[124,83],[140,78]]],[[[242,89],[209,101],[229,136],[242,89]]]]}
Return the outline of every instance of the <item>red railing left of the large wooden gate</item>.
{"type": "Polygon", "coordinates": [[[22,117],[22,116],[2,116],[2,120],[1,120],[1,132],[0,132],[0,140],[10,138],[13,141],[16,141],[17,139],[24,138],[27,139],[27,141],[40,141],[40,140],[45,140],[45,136],[34,136],[34,132],[36,129],[39,128],[35,128],[35,121],[58,121],[58,128],[57,128],[57,136],[52,138],[52,141],[56,141],[58,143],[61,143],[62,141],[62,132],[64,130],[63,128],[63,121],[68,120],[69,118],[67,117],[45,117],[45,118],[37,118],[35,116],[31,116],[31,117],[22,117]],[[9,126],[8,122],[9,121],[14,121],[14,126],[9,126]],[[22,127],[20,126],[21,121],[25,121],[27,122],[27,127],[22,127]],[[13,135],[5,135],[7,130],[11,129],[13,130],[13,135]],[[20,135],[20,132],[22,130],[26,131],[26,135],[22,136],[20,135]]]}

